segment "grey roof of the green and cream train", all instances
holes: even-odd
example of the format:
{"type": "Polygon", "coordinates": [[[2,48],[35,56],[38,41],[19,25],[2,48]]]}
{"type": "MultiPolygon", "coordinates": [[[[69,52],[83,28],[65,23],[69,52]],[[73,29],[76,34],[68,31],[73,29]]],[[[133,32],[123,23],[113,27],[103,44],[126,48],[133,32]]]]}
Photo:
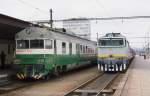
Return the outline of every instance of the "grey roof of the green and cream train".
{"type": "MultiPolygon", "coordinates": [[[[57,30],[53,28],[46,28],[46,27],[27,27],[26,29],[18,32],[16,34],[16,39],[39,39],[39,38],[54,38],[54,39],[63,39],[63,40],[77,40],[78,42],[91,42],[95,43],[95,41],[91,41],[85,38],[78,37],[74,34],[69,34],[68,32],[64,32],[63,30],[57,30]]],[[[76,42],[76,41],[74,41],[76,42]]]]}

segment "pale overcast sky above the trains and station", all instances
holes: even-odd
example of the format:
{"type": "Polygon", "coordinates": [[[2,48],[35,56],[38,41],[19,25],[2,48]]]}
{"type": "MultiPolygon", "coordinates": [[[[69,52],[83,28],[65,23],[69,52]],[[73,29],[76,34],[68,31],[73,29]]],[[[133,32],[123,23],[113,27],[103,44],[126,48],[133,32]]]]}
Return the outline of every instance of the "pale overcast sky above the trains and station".
{"type": "MultiPolygon", "coordinates": [[[[77,17],[150,16],[150,0],[1,0],[0,13],[26,21],[77,17]]],[[[56,25],[57,26],[57,25],[56,25]]],[[[61,25],[59,25],[61,27],[61,25]]],[[[121,32],[133,47],[143,47],[150,32],[150,19],[91,21],[92,40],[96,33],[121,32]]]]}

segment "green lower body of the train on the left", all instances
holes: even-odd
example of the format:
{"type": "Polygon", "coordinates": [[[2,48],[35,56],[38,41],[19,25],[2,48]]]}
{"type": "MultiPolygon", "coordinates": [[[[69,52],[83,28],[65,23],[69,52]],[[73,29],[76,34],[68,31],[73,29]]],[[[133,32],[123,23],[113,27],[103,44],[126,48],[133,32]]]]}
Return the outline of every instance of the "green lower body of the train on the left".
{"type": "Polygon", "coordinates": [[[86,61],[96,62],[96,55],[19,54],[16,55],[15,64],[19,66],[17,73],[19,79],[40,79],[54,72],[58,66],[61,68],[86,61]]]}

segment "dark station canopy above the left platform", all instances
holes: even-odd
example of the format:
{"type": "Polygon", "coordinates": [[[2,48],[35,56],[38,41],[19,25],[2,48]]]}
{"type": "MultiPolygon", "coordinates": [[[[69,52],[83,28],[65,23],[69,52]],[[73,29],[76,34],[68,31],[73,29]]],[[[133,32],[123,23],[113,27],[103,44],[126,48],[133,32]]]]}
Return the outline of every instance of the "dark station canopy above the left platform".
{"type": "Polygon", "coordinates": [[[0,39],[14,39],[15,34],[31,23],[0,14],[0,39]]]}

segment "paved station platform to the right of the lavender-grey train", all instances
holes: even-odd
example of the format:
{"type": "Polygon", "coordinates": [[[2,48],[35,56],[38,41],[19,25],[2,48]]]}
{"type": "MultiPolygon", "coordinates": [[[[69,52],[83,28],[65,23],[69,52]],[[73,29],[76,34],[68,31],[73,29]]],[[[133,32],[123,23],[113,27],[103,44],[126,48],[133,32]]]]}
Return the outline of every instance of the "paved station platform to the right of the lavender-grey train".
{"type": "Polygon", "coordinates": [[[121,96],[150,96],[150,59],[135,57],[121,96]]]}

